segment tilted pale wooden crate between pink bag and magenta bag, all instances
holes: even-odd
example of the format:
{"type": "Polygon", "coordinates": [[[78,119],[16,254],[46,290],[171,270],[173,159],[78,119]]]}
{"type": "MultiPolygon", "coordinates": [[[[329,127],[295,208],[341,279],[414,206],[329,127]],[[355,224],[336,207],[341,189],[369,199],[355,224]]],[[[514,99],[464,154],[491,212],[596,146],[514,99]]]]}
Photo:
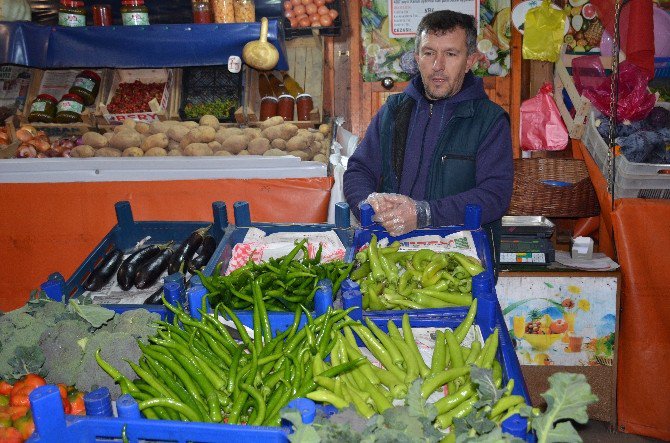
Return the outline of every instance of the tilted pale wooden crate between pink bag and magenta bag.
{"type": "MultiPolygon", "coordinates": [[[[577,92],[575,82],[568,72],[568,68],[572,67],[572,60],[580,55],[570,55],[565,53],[565,46],[561,51],[561,56],[558,58],[554,66],[554,101],[558,110],[563,117],[565,126],[568,128],[568,135],[570,138],[581,139],[586,130],[586,119],[591,111],[591,102],[588,98],[580,95],[577,92]],[[574,117],[568,110],[563,99],[563,90],[565,90],[570,97],[572,106],[574,107],[574,117]]],[[[623,53],[619,56],[620,61],[625,59],[623,53]]],[[[612,57],[600,57],[600,60],[605,68],[612,66],[612,57]]]]}

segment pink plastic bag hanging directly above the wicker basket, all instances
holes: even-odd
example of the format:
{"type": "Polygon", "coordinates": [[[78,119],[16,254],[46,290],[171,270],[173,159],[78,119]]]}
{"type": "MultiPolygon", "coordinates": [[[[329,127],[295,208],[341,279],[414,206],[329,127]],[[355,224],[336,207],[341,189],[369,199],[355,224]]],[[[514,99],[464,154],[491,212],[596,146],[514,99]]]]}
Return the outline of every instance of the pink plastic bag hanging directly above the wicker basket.
{"type": "Polygon", "coordinates": [[[568,130],[554,102],[551,83],[545,83],[535,97],[521,103],[521,149],[560,151],[568,145],[568,130]]]}

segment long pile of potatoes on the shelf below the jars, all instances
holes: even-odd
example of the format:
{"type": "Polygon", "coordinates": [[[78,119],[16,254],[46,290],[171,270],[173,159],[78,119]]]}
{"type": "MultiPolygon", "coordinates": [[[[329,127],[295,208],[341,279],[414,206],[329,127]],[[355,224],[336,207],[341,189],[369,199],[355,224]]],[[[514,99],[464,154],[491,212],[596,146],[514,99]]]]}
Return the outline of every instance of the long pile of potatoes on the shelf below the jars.
{"type": "Polygon", "coordinates": [[[221,126],[213,115],[199,122],[126,120],[105,134],[87,132],[72,157],[159,157],[210,155],[294,155],[327,163],[330,125],[301,129],[272,117],[258,128],[221,126]]]}

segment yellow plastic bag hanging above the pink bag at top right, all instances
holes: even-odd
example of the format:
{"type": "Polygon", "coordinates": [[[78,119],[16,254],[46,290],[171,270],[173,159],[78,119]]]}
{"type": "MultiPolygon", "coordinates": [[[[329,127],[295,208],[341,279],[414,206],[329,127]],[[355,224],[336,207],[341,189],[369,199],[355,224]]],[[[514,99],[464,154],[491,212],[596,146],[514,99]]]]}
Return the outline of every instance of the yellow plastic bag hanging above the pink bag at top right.
{"type": "Polygon", "coordinates": [[[566,12],[555,9],[549,0],[526,13],[523,58],[555,62],[561,53],[566,12]]]}

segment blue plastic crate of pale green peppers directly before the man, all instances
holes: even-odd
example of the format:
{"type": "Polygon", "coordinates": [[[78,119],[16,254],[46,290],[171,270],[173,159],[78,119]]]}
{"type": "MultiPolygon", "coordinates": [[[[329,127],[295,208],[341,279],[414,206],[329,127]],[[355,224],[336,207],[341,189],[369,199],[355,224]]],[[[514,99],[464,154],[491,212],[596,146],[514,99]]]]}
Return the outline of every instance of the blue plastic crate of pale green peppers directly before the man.
{"type": "MultiPolygon", "coordinates": [[[[439,228],[425,228],[417,229],[415,231],[408,232],[407,234],[399,235],[394,237],[390,235],[382,226],[372,221],[374,211],[372,207],[368,204],[365,204],[361,207],[361,229],[356,230],[353,239],[353,247],[345,257],[345,260],[351,262],[355,260],[356,252],[365,244],[370,242],[372,234],[377,236],[377,239],[388,238],[389,244],[395,240],[402,241],[406,238],[415,237],[417,235],[439,235],[441,237],[446,237],[457,232],[462,232],[464,230],[470,231],[472,234],[472,239],[477,248],[477,255],[481,261],[484,271],[475,276],[472,280],[472,295],[477,297],[478,294],[483,292],[488,292],[493,287],[494,280],[494,271],[493,271],[493,255],[491,253],[491,248],[489,246],[488,234],[481,227],[481,209],[477,205],[468,205],[465,213],[465,223],[463,226],[444,226],[439,228]],[[477,288],[476,286],[479,286],[477,288]]],[[[358,284],[354,282],[349,283],[350,287],[357,288],[358,284]]],[[[454,311],[454,312],[467,312],[467,308],[454,307],[454,308],[440,308],[440,309],[413,309],[413,310],[393,310],[393,311],[365,311],[365,315],[377,315],[382,312],[394,312],[400,313],[402,315],[404,312],[409,314],[429,314],[433,311],[443,312],[445,310],[454,311]]]]}

